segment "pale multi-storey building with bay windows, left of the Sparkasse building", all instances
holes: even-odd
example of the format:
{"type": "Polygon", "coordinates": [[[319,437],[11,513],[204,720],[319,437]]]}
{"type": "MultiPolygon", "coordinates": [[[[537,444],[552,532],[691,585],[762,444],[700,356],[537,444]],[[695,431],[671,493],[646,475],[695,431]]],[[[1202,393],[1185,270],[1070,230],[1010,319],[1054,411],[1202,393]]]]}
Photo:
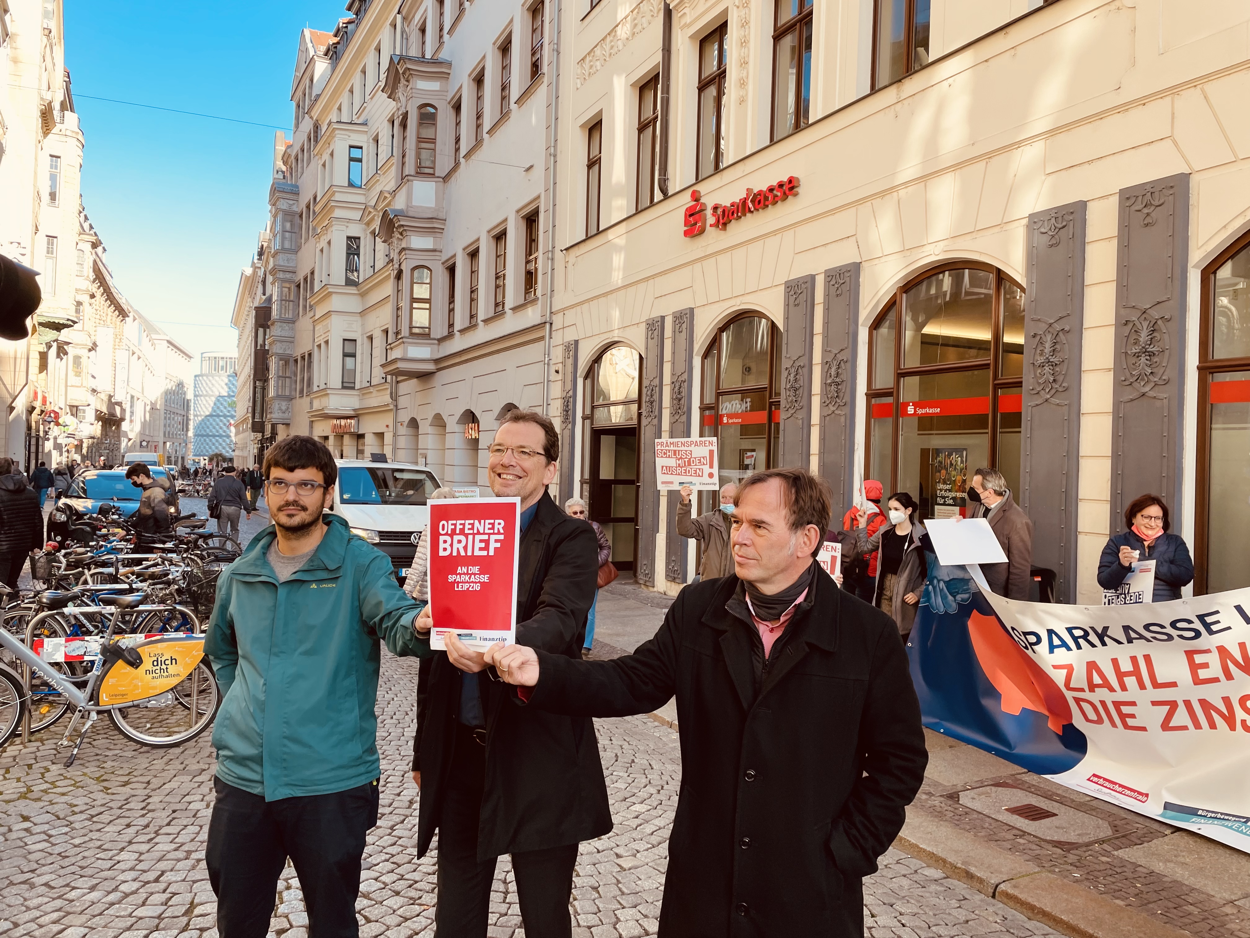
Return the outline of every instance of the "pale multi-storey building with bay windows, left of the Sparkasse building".
{"type": "MultiPolygon", "coordinates": [[[[346,11],[301,33],[295,126],[275,146],[270,394],[251,445],[310,433],[484,485],[498,419],[544,399],[549,14],[346,11]]],[[[252,340],[240,331],[240,363],[252,340]]]]}

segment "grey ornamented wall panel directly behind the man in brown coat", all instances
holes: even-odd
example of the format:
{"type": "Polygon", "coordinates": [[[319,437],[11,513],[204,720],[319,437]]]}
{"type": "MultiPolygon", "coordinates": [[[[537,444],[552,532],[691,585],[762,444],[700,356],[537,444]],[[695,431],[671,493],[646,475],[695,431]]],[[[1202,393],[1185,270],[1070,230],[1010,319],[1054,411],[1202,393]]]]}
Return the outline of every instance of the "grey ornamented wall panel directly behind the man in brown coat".
{"type": "Polygon", "coordinates": [[[1032,519],[1032,564],[1076,602],[1085,203],[1029,216],[1025,273],[1020,507],[1032,519]]]}

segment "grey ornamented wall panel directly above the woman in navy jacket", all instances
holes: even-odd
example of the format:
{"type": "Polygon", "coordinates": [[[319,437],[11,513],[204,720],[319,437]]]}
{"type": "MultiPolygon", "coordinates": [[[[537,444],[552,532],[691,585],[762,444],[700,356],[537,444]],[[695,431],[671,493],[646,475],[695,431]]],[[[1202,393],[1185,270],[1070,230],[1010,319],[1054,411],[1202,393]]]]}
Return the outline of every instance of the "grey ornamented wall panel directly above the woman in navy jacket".
{"type": "Polygon", "coordinates": [[[1189,174],[1120,190],[1115,379],[1111,389],[1111,533],[1138,495],[1181,514],[1181,414],[1189,174]]]}

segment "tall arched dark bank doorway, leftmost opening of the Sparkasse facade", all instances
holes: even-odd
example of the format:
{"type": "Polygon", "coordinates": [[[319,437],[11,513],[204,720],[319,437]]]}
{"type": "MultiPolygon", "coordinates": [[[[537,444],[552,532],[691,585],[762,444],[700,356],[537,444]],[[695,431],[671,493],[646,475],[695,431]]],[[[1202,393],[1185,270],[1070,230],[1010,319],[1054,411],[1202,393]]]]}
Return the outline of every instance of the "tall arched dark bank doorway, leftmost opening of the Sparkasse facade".
{"type": "Polygon", "coordinates": [[[614,345],[586,375],[581,490],[611,542],[618,570],[634,570],[638,555],[639,384],[642,356],[614,345]]]}

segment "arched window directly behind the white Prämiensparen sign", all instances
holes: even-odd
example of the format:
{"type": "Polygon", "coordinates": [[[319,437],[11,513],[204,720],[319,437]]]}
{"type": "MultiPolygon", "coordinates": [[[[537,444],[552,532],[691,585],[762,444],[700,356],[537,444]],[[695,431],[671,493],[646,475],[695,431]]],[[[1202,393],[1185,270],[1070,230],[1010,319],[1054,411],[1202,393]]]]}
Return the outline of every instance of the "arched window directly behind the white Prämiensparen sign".
{"type": "MultiPolygon", "coordinates": [[[[781,330],[759,313],[730,320],[702,359],[700,435],[716,436],[720,484],[771,469],[781,453],[781,330]]],[[[699,493],[711,512],[715,492],[699,493]]]]}

